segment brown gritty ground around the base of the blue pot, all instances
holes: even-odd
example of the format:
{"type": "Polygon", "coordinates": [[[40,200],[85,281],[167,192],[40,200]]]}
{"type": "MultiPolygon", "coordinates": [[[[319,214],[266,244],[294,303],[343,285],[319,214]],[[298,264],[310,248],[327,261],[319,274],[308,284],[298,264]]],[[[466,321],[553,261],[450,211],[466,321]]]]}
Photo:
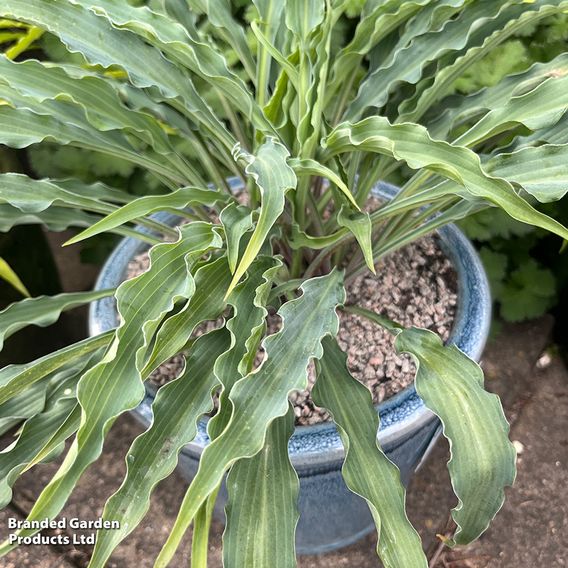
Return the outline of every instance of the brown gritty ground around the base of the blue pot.
{"type": "MultiPolygon", "coordinates": [[[[484,358],[489,388],[499,393],[512,423],[511,436],[522,448],[519,473],[507,502],[490,530],[467,548],[448,551],[435,535],[449,534],[449,510],[455,504],[445,468],[447,446],[440,443],[425,466],[413,479],[408,491],[409,516],[419,529],[431,567],[438,568],[546,568],[568,564],[568,371],[559,357],[535,362],[546,346],[550,321],[506,326],[484,358]]],[[[67,517],[97,517],[104,500],[112,493],[124,472],[124,455],[131,440],[140,432],[129,417],[113,427],[105,454],[95,471],[81,481],[64,514],[67,517]]],[[[36,468],[15,488],[14,501],[0,513],[0,534],[6,535],[7,518],[23,518],[31,500],[54,473],[56,464],[36,468]]],[[[184,482],[172,476],[155,492],[150,514],[144,523],[117,550],[111,567],[152,566],[160,544],[173,522],[185,490],[184,482]]],[[[214,525],[210,568],[221,567],[222,527],[214,525]]],[[[175,566],[187,565],[186,541],[175,566]]],[[[374,552],[376,539],[369,536],[340,552],[306,556],[300,568],[378,566],[374,552]]],[[[12,552],[0,562],[7,568],[74,568],[85,566],[89,546],[27,547],[12,552]]]]}

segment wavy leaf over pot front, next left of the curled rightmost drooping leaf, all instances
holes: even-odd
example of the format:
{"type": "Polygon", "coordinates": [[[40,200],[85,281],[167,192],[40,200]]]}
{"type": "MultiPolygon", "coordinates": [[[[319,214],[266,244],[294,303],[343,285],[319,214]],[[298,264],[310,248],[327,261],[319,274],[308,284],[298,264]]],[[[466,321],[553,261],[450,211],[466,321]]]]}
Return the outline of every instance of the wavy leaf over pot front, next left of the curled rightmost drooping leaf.
{"type": "Polygon", "coordinates": [[[347,487],[369,505],[379,535],[377,553],[387,567],[425,568],[420,537],[406,516],[400,473],[377,443],[379,417],[371,393],[351,376],[335,338],[324,338],[323,350],[312,397],[338,427],[345,447],[341,473],[347,487]]]}

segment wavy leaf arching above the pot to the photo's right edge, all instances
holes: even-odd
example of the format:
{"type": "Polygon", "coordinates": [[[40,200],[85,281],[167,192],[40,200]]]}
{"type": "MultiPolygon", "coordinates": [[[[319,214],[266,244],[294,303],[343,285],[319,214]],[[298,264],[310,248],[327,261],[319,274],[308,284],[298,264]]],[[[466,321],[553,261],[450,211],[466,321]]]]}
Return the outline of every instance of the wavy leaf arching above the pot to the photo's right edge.
{"type": "Polygon", "coordinates": [[[518,221],[568,237],[568,229],[534,209],[507,181],[487,175],[477,154],[432,140],[420,125],[392,125],[386,118],[371,117],[355,125],[339,125],[324,144],[330,155],[356,150],[377,152],[403,160],[412,169],[433,171],[463,186],[467,195],[498,205],[518,221]]]}

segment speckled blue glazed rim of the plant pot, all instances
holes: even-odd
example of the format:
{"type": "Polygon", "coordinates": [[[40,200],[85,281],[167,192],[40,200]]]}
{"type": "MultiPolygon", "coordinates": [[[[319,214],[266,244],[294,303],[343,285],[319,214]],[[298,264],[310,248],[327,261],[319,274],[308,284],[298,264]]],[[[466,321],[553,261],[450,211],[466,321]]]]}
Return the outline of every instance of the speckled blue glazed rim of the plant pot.
{"type": "MultiPolygon", "coordinates": [[[[233,190],[239,189],[239,180],[230,179],[229,182],[233,190]]],[[[372,195],[390,199],[397,191],[396,186],[380,182],[373,188],[372,195]]],[[[175,221],[174,215],[158,215],[164,222],[175,221]]],[[[458,281],[457,310],[448,343],[457,345],[469,357],[479,361],[491,323],[491,295],[487,276],[473,245],[455,225],[446,225],[436,233],[443,252],[450,259],[457,273],[458,281]]],[[[103,265],[95,289],[117,286],[124,279],[130,260],[147,248],[149,245],[143,241],[137,241],[132,237],[123,239],[103,265]]],[[[91,336],[111,329],[115,325],[116,308],[112,297],[91,304],[89,308],[91,336]]],[[[134,409],[135,414],[146,427],[152,421],[151,405],[154,397],[155,389],[147,385],[144,400],[134,409]]],[[[377,438],[385,451],[397,447],[414,432],[437,420],[416,394],[414,383],[379,403],[376,409],[380,417],[377,438]]],[[[201,419],[197,436],[182,451],[200,455],[208,443],[207,419],[201,419]]],[[[294,465],[310,467],[341,461],[345,455],[339,433],[335,425],[330,422],[296,426],[290,439],[289,453],[294,465]]]]}

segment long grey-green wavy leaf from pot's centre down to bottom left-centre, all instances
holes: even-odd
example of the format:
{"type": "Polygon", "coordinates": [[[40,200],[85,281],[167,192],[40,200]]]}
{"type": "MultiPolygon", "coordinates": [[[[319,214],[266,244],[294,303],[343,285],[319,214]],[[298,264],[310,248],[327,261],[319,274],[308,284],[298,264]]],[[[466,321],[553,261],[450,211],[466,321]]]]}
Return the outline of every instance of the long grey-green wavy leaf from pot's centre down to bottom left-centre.
{"type": "Polygon", "coordinates": [[[263,342],[262,366],[235,384],[230,399],[231,420],[223,433],[204,450],[197,476],[183,500],[178,518],[156,567],[167,566],[201,505],[236,461],[252,457],[263,447],[269,425],[288,411],[288,395],[307,385],[310,360],[322,355],[321,340],[335,335],[336,307],[345,300],[342,275],[333,271],[302,285],[302,296],[279,310],[282,329],[263,342]],[[259,389],[258,384],[263,388],[259,389]]]}

